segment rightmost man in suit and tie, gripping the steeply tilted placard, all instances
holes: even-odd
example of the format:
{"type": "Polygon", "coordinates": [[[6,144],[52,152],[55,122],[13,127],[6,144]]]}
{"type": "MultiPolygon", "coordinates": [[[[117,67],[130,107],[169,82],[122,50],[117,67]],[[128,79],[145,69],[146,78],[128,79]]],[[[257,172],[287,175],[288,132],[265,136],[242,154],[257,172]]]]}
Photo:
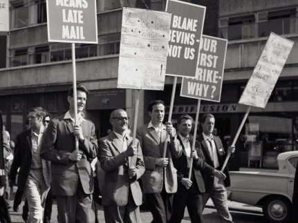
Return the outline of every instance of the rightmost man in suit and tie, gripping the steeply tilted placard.
{"type": "MultiPolygon", "coordinates": [[[[216,170],[220,170],[225,161],[225,151],[221,139],[212,135],[214,124],[215,119],[212,114],[208,113],[202,116],[201,126],[203,133],[199,135],[198,141],[201,144],[205,162],[209,164],[209,166],[216,168],[216,170]]],[[[230,153],[234,153],[235,146],[230,146],[228,149],[230,153]]],[[[227,189],[225,187],[230,186],[230,175],[227,167],[225,167],[223,173],[225,174],[224,180],[218,178],[218,171],[216,171],[214,175],[203,173],[206,189],[206,193],[203,194],[203,204],[205,206],[207,200],[211,197],[220,215],[221,222],[233,222],[230,211],[227,208],[227,189]]]]}

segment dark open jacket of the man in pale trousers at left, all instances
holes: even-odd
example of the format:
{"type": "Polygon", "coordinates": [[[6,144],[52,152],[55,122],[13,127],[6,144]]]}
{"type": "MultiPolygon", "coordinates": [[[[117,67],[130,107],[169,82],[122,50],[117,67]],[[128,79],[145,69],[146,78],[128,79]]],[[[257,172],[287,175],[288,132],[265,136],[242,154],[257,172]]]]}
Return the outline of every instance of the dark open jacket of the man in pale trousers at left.
{"type": "MultiPolygon", "coordinates": [[[[21,195],[24,192],[32,164],[31,143],[31,129],[17,135],[17,141],[15,144],[15,157],[10,167],[9,179],[12,180],[12,182],[15,182],[17,169],[19,168],[17,186],[21,191],[21,195]]],[[[46,160],[41,159],[41,164],[46,186],[50,186],[50,162],[46,162],[46,160]]]]}

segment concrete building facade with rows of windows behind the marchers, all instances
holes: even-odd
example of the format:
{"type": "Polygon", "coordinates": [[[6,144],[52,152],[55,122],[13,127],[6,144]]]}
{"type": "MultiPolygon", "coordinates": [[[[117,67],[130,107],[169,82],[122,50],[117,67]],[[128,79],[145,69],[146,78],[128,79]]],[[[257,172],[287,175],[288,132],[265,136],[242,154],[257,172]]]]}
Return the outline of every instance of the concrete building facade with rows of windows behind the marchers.
{"type": "MultiPolygon", "coordinates": [[[[213,113],[223,142],[233,139],[246,107],[238,104],[245,84],[270,32],[298,39],[298,3],[294,0],[192,0],[207,7],[203,33],[228,39],[220,103],[202,101],[201,115],[213,113]]],[[[99,136],[106,135],[109,114],[125,108],[133,115],[135,93],[118,89],[118,53],[122,6],[165,10],[165,0],[97,0],[98,44],[75,44],[77,81],[91,94],[86,116],[99,136]]],[[[32,106],[43,106],[53,117],[68,109],[72,83],[71,43],[49,43],[45,0],[10,0],[10,35],[1,39],[0,110],[12,139],[25,128],[32,106]],[[2,44],[1,44],[2,45],[2,44]],[[3,55],[6,61],[3,61],[3,55]]],[[[298,49],[294,45],[265,109],[253,108],[237,142],[231,168],[277,167],[277,155],[298,148],[298,49]]],[[[138,124],[149,120],[147,104],[163,99],[169,106],[173,77],[164,91],[141,91],[138,124]]],[[[176,89],[173,122],[183,113],[195,117],[197,101],[180,97],[176,89]]],[[[131,126],[133,124],[131,123],[131,126]]]]}

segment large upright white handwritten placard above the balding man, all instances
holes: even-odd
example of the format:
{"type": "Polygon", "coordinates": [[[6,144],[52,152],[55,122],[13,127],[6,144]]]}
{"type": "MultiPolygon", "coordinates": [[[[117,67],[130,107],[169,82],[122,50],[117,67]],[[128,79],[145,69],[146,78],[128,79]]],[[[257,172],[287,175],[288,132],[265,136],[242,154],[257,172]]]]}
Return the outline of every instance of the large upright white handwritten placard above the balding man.
{"type": "Polygon", "coordinates": [[[171,14],[123,8],[118,88],[163,90],[171,14]]]}

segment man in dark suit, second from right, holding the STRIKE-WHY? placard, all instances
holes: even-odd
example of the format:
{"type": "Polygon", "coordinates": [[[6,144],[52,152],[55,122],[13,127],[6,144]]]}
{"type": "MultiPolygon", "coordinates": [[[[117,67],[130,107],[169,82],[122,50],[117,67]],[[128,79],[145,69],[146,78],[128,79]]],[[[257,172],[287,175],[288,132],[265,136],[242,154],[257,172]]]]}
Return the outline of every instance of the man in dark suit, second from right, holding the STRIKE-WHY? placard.
{"type": "Polygon", "coordinates": [[[205,185],[201,172],[206,175],[214,173],[214,168],[205,163],[198,142],[195,144],[195,149],[192,150],[194,138],[192,135],[189,135],[192,130],[192,122],[193,119],[189,115],[181,115],[178,118],[177,139],[183,148],[183,154],[179,158],[173,159],[174,166],[177,169],[178,190],[174,195],[173,214],[169,221],[171,223],[179,223],[183,220],[185,206],[187,206],[191,222],[203,222],[202,211],[205,185]],[[193,159],[193,166],[191,179],[189,180],[191,159],[193,159]]]}

